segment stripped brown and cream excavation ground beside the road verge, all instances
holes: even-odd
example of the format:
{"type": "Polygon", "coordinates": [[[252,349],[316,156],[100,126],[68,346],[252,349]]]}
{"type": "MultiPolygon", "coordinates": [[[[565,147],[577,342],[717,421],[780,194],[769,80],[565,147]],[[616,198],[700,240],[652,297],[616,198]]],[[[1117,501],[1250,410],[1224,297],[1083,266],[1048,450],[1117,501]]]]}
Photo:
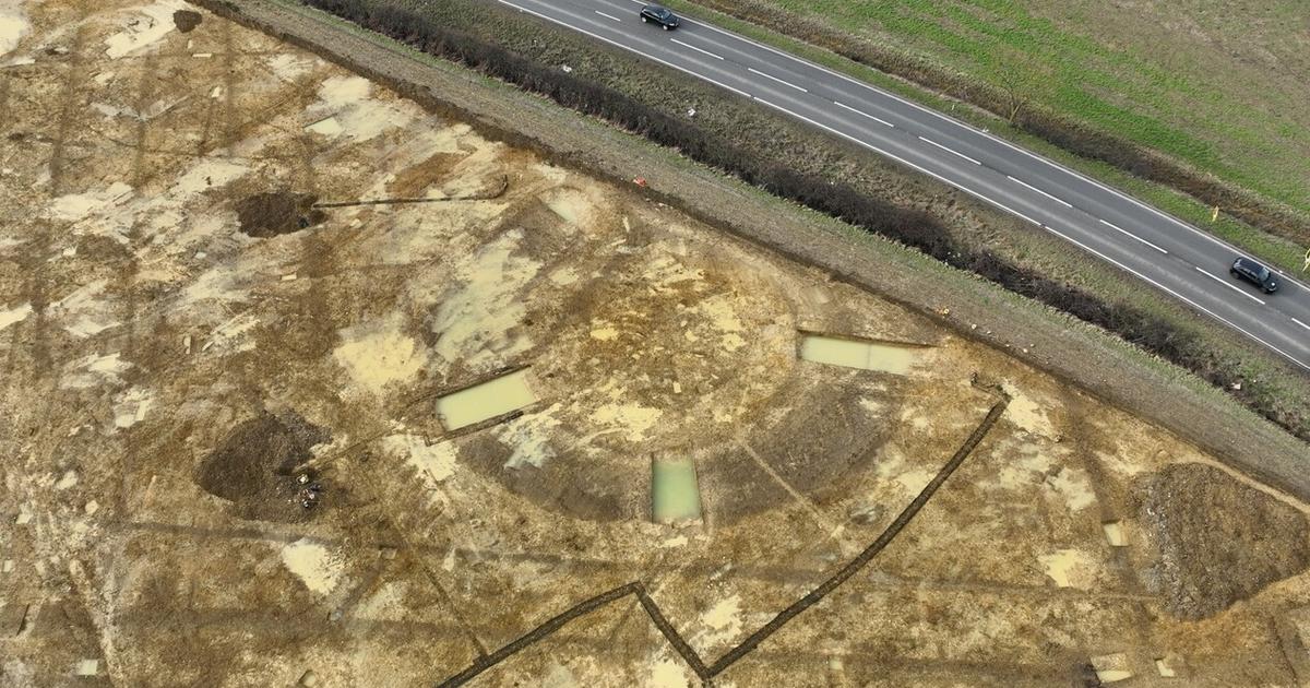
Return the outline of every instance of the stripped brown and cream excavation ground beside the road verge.
{"type": "Polygon", "coordinates": [[[1310,506],[193,10],[0,5],[0,683],[694,684],[880,533],[717,684],[1310,680],[1310,506]]]}

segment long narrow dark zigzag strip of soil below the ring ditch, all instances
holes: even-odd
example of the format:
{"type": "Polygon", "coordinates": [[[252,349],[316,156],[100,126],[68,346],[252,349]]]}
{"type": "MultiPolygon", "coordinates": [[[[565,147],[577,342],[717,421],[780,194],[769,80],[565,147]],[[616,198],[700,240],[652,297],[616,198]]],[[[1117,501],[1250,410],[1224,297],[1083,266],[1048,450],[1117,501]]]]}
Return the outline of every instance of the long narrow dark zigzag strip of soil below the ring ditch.
{"type": "Polygon", "coordinates": [[[651,599],[651,596],[646,592],[646,586],[642,584],[641,581],[634,581],[631,583],[626,583],[613,590],[601,592],[600,595],[583,600],[570,607],[569,609],[565,609],[563,612],[553,616],[552,619],[538,625],[537,628],[524,633],[519,638],[504,645],[499,650],[495,650],[491,654],[483,654],[478,657],[473,662],[473,664],[470,664],[468,668],[445,679],[439,685],[440,688],[453,688],[456,685],[464,685],[465,683],[476,679],[483,671],[517,654],[520,650],[527,649],[528,646],[536,643],[537,641],[545,640],[552,633],[563,628],[565,624],[575,619],[579,619],[582,616],[586,616],[614,600],[626,598],[627,595],[634,595],[637,598],[637,600],[642,605],[642,609],[646,611],[646,615],[650,617],[651,622],[655,624],[655,628],[658,628],[660,633],[664,634],[664,638],[668,640],[669,645],[673,646],[673,649],[683,658],[683,660],[692,667],[692,671],[696,672],[697,678],[700,678],[705,685],[710,685],[711,681],[714,680],[714,676],[718,676],[723,671],[727,671],[728,667],[738,663],[741,658],[744,658],[747,654],[755,650],[761,642],[764,642],[770,636],[777,633],[783,625],[787,624],[787,621],[791,621],[798,615],[800,615],[800,612],[821,602],[829,592],[832,592],[838,586],[845,583],[852,575],[855,575],[855,573],[863,569],[870,561],[872,561],[874,557],[878,556],[879,552],[882,552],[888,544],[891,544],[891,541],[897,535],[900,535],[900,532],[905,528],[905,526],[908,526],[909,522],[913,520],[916,515],[918,515],[920,510],[922,510],[924,506],[927,505],[929,499],[931,499],[933,495],[937,494],[937,490],[942,486],[942,484],[946,482],[947,478],[951,477],[951,473],[955,473],[955,469],[958,469],[960,464],[964,463],[964,459],[968,457],[968,455],[972,453],[973,449],[982,442],[988,431],[992,430],[992,426],[994,426],[996,422],[1001,418],[1001,414],[1005,413],[1005,409],[1009,404],[1010,404],[1009,397],[1001,393],[1000,400],[994,405],[992,405],[992,409],[988,410],[986,417],[982,418],[982,422],[973,429],[973,432],[969,434],[968,439],[965,439],[964,443],[960,444],[960,448],[955,451],[955,455],[951,456],[951,459],[942,465],[942,468],[937,472],[937,476],[934,476],[933,480],[930,480],[927,485],[924,486],[924,489],[918,493],[918,495],[914,497],[914,499],[910,501],[910,503],[907,505],[904,510],[901,510],[900,515],[896,516],[896,520],[893,520],[889,526],[887,526],[887,528],[882,532],[882,535],[878,536],[876,540],[872,541],[872,544],[865,548],[863,552],[861,552],[855,558],[850,560],[845,566],[838,569],[837,573],[832,574],[827,581],[820,583],[819,587],[815,587],[808,594],[806,594],[806,596],[798,599],[796,602],[791,603],[787,608],[778,612],[778,615],[774,616],[772,621],[760,626],[758,630],[756,630],[755,633],[748,636],[744,641],[738,643],[735,647],[724,653],[723,657],[718,658],[713,664],[709,666],[705,664],[705,659],[702,659],[701,655],[697,654],[690,645],[688,645],[686,640],[684,640],[683,636],[679,634],[677,629],[675,629],[673,625],[669,624],[668,619],[664,617],[664,613],[660,611],[659,604],[656,604],[655,600],[651,599]]]}

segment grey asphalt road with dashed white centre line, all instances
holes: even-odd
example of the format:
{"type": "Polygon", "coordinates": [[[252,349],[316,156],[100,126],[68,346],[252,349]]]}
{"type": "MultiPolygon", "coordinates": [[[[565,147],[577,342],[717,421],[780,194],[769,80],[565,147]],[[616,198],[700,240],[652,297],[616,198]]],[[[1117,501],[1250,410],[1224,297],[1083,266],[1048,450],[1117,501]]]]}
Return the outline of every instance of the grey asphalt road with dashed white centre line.
{"type": "Polygon", "coordinates": [[[1310,371],[1310,288],[1284,275],[1279,291],[1229,275],[1238,249],[1150,206],[934,110],[683,18],[642,24],[638,0],[496,0],[582,31],[807,122],[955,186],[1310,371]]]}

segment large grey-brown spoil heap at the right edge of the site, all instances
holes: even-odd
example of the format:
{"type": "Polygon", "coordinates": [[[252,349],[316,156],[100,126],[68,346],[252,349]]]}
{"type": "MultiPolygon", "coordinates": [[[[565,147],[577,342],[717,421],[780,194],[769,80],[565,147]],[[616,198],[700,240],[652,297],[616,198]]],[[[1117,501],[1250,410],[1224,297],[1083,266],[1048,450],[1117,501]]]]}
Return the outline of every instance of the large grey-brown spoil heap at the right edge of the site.
{"type": "Polygon", "coordinates": [[[1212,616],[1310,564],[1300,511],[1204,464],[1149,477],[1140,515],[1159,546],[1148,586],[1179,619],[1212,616]]]}

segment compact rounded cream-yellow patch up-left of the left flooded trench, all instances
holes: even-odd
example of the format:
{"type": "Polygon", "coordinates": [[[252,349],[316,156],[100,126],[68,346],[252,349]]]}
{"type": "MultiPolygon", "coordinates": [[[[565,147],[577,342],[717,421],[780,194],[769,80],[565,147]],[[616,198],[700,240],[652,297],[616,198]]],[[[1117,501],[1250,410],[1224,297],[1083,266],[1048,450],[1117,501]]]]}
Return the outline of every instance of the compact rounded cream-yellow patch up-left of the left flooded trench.
{"type": "Polygon", "coordinates": [[[427,351],[401,330],[400,317],[341,330],[333,358],[355,384],[380,394],[388,385],[411,380],[427,364],[427,351]]]}

